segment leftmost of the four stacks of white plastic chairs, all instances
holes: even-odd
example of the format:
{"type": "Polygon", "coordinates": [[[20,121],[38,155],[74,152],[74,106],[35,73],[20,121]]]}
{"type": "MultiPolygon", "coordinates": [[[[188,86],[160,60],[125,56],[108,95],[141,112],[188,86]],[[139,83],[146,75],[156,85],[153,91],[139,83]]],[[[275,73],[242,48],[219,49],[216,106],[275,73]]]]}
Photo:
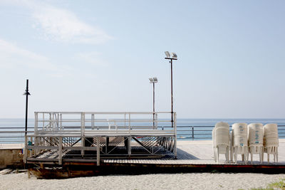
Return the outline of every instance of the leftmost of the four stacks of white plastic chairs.
{"type": "Polygon", "coordinates": [[[219,154],[225,154],[229,162],[229,124],[218,122],[212,131],[214,145],[214,161],[219,162],[219,154]]]}

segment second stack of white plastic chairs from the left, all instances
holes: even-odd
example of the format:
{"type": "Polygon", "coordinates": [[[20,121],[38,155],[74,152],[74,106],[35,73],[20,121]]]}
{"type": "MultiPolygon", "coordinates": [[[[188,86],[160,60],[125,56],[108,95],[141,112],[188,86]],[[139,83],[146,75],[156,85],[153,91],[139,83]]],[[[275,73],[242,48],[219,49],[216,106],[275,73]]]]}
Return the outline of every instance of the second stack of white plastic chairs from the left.
{"type": "Polygon", "coordinates": [[[237,164],[237,154],[242,154],[242,161],[247,164],[247,124],[246,123],[234,123],[232,125],[232,154],[234,154],[234,162],[237,164]]]}

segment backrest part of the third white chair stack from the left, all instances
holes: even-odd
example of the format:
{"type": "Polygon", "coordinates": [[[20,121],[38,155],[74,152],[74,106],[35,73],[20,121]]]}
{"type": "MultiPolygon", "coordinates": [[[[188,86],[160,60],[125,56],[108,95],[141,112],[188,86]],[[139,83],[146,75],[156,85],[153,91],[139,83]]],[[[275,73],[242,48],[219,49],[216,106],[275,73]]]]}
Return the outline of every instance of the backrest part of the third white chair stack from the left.
{"type": "Polygon", "coordinates": [[[247,126],[247,139],[250,145],[263,145],[263,125],[251,123],[247,126]]]}

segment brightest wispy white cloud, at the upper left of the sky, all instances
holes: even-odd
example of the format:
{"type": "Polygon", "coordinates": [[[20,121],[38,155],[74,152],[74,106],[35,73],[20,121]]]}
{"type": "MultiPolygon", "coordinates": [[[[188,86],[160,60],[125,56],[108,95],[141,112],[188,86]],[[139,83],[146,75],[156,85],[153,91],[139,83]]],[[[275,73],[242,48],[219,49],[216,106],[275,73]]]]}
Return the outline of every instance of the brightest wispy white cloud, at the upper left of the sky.
{"type": "Polygon", "coordinates": [[[105,43],[112,39],[103,29],[92,26],[66,9],[60,9],[38,1],[25,1],[32,10],[34,28],[42,32],[43,37],[54,41],[71,43],[105,43]]]}

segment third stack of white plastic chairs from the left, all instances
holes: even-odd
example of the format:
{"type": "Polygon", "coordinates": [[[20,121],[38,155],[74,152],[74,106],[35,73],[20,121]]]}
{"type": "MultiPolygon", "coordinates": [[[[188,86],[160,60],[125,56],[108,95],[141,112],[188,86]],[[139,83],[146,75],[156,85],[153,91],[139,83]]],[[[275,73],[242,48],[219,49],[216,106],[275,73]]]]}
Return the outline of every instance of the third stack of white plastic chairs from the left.
{"type": "MultiPolygon", "coordinates": [[[[259,154],[259,162],[263,161],[263,125],[261,123],[251,123],[247,126],[247,139],[249,142],[249,153],[251,163],[253,154],[259,154]]],[[[247,157],[249,159],[249,157],[247,157]]]]}

